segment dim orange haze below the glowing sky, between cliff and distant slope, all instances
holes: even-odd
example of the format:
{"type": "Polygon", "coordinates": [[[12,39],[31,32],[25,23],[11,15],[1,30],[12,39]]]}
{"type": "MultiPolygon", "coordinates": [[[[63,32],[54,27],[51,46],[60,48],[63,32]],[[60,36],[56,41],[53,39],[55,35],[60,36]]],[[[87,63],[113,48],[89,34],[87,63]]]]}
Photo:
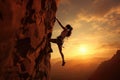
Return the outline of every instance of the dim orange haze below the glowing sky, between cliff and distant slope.
{"type": "Polygon", "coordinates": [[[69,58],[66,65],[61,66],[61,58],[51,60],[51,80],[87,80],[101,62],[108,58],[91,59],[69,58]]]}

